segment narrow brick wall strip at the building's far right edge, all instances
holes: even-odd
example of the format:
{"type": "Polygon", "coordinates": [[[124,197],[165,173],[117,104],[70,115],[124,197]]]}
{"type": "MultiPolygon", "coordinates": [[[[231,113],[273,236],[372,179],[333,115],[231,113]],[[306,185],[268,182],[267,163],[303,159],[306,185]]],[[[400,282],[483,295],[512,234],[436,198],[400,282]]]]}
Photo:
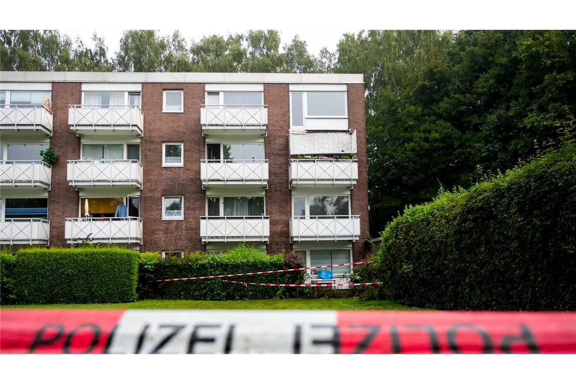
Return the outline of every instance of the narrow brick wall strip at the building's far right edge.
{"type": "Polygon", "coordinates": [[[360,261],[365,253],[364,239],[369,236],[368,174],[366,166],[366,109],[364,85],[348,84],[348,128],[356,130],[358,146],[358,182],[352,189],[352,214],[360,215],[360,239],[353,245],[353,259],[360,261]]]}

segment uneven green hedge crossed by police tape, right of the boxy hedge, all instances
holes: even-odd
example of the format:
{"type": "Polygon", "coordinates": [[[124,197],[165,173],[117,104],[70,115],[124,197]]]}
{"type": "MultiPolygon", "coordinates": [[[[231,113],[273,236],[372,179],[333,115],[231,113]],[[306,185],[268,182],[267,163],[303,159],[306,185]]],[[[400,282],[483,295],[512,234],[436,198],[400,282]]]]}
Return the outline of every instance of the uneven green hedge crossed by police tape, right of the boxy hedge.
{"type": "MultiPolygon", "coordinates": [[[[244,245],[239,245],[224,254],[206,255],[203,252],[195,252],[184,258],[168,258],[167,260],[160,260],[160,255],[156,253],[142,253],[138,298],[214,301],[285,298],[288,295],[298,295],[297,290],[301,288],[244,286],[243,284],[225,283],[221,279],[165,283],[150,283],[150,280],[228,275],[230,273],[295,267],[297,266],[294,265],[294,261],[287,263],[283,254],[268,256],[260,250],[244,245]]],[[[286,272],[238,276],[229,280],[253,283],[297,283],[302,282],[303,279],[304,273],[286,272]]]]}

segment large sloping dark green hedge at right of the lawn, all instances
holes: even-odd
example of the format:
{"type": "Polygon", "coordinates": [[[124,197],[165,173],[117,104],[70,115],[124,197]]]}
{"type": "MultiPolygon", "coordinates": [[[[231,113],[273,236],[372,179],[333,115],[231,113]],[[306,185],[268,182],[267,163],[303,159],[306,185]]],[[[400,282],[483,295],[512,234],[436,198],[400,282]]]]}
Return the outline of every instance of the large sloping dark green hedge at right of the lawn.
{"type": "Polygon", "coordinates": [[[408,207],[381,233],[377,271],[406,305],[576,309],[576,148],[408,207]]]}

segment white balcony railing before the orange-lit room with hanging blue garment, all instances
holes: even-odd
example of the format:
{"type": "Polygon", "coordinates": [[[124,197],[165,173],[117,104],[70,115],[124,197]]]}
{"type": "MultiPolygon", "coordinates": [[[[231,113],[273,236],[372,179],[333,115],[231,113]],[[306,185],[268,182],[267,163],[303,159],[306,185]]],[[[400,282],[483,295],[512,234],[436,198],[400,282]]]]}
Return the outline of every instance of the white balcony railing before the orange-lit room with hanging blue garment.
{"type": "Polygon", "coordinates": [[[69,218],[66,219],[64,232],[69,244],[79,243],[84,239],[108,244],[142,244],[142,219],[69,218]]]}

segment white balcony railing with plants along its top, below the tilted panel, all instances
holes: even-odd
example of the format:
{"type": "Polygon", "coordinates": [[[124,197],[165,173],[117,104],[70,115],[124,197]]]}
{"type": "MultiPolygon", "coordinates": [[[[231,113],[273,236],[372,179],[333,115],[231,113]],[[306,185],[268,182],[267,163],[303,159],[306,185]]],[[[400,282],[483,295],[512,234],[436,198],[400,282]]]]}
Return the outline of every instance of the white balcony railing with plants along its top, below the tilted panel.
{"type": "Polygon", "coordinates": [[[291,159],[290,185],[350,185],[358,181],[358,160],[291,159]]]}

